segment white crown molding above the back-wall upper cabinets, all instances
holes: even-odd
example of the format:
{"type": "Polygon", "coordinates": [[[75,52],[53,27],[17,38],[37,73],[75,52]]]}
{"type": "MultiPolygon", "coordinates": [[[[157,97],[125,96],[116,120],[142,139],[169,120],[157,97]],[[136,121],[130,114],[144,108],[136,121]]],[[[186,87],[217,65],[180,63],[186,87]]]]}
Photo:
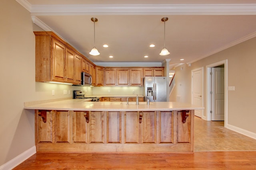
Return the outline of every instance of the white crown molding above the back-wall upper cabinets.
{"type": "Polygon", "coordinates": [[[161,67],[161,62],[94,62],[94,64],[98,66],[123,66],[123,67],[129,67],[129,66],[155,66],[155,67],[161,67]]]}

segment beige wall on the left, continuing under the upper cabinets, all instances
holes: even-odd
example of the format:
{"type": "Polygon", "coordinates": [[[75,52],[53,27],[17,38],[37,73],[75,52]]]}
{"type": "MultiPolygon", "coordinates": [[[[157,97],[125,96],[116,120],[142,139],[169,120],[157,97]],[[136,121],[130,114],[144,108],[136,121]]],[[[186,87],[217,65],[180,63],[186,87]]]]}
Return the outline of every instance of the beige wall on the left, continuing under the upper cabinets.
{"type": "Polygon", "coordinates": [[[0,1],[0,166],[12,160],[34,143],[34,111],[24,110],[24,102],[72,97],[75,87],[35,82],[35,37],[30,12],[15,0],[0,1]],[[55,96],[52,96],[55,90],[55,96]],[[64,95],[63,90],[71,90],[64,95]]]}

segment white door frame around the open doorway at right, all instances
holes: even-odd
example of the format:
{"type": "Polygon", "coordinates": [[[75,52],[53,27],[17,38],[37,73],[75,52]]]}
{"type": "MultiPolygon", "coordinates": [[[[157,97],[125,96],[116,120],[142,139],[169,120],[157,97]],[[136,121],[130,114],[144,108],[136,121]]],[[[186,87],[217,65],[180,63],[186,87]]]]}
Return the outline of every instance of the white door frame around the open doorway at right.
{"type": "Polygon", "coordinates": [[[228,118],[228,104],[227,104],[227,80],[228,80],[228,60],[219,61],[217,63],[212,63],[206,66],[206,117],[203,117],[205,120],[212,121],[212,82],[211,82],[211,70],[213,67],[223,65],[224,67],[224,127],[227,127],[227,118],[228,118]]]}

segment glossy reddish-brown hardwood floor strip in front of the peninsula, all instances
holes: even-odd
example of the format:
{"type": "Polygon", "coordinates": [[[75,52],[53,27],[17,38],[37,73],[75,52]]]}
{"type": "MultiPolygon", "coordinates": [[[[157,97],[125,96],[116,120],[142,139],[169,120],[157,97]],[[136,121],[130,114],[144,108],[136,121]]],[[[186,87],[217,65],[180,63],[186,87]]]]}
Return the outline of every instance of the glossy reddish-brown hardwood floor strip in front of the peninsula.
{"type": "Polygon", "coordinates": [[[37,153],[14,170],[256,170],[256,152],[194,154],[37,153]]]}

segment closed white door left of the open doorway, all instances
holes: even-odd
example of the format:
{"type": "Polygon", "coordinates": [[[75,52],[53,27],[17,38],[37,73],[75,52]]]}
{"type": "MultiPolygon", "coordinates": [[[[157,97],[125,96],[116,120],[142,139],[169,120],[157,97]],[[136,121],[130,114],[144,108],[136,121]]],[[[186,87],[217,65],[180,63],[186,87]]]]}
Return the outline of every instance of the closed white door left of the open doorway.
{"type": "MultiPolygon", "coordinates": [[[[203,68],[192,70],[192,104],[203,107],[203,68]]],[[[203,116],[203,110],[195,110],[195,115],[203,116]]]]}

